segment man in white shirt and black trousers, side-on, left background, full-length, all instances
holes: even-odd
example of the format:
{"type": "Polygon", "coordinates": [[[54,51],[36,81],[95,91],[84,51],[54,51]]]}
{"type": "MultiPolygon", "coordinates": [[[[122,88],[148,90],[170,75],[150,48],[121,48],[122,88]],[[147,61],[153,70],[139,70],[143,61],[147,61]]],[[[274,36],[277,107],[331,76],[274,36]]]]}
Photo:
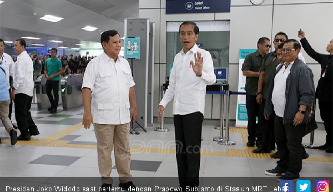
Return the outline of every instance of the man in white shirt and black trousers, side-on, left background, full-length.
{"type": "Polygon", "coordinates": [[[14,99],[16,123],[21,132],[17,140],[29,141],[30,136],[39,135],[39,131],[30,113],[34,94],[34,65],[25,47],[23,39],[17,39],[14,43],[14,51],[18,56],[10,97],[14,99]]]}

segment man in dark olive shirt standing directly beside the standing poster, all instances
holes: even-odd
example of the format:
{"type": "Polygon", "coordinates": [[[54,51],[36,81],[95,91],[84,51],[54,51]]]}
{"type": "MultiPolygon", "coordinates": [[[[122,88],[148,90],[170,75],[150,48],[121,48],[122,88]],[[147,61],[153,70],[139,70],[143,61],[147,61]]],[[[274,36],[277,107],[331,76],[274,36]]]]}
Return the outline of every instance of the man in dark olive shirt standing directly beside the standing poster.
{"type": "Polygon", "coordinates": [[[247,146],[254,146],[256,141],[257,146],[261,139],[261,132],[257,126],[256,119],[259,118],[260,105],[257,103],[257,88],[261,66],[264,62],[264,56],[271,47],[270,40],[267,37],[261,37],[257,42],[257,51],[250,53],[245,57],[242,71],[246,76],[245,91],[246,91],[246,109],[247,109],[247,146]]]}

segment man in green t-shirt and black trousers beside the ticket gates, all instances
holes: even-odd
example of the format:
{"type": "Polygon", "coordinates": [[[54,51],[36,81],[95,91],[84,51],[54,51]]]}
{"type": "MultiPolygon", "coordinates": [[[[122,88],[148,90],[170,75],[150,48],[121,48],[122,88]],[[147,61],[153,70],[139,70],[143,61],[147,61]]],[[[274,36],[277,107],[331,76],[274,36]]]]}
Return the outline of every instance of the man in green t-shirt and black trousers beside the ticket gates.
{"type": "Polygon", "coordinates": [[[58,50],[56,48],[51,49],[51,58],[46,59],[45,66],[44,66],[44,74],[46,77],[46,94],[49,97],[51,107],[47,110],[50,113],[56,113],[58,102],[59,102],[59,75],[62,74],[62,64],[61,61],[57,58],[58,50]],[[54,99],[52,96],[52,90],[54,99]]]}

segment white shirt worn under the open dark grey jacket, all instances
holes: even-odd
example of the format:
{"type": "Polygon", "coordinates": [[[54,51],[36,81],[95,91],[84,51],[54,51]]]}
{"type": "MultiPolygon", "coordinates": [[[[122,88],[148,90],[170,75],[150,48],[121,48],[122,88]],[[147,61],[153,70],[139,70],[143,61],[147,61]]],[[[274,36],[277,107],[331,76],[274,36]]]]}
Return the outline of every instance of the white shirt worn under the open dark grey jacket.
{"type": "Polygon", "coordinates": [[[291,62],[286,68],[286,63],[277,72],[274,78],[274,88],[272,94],[272,102],[274,106],[275,114],[278,117],[283,117],[284,108],[286,106],[286,83],[287,77],[290,74],[291,66],[294,64],[294,61],[291,62]]]}

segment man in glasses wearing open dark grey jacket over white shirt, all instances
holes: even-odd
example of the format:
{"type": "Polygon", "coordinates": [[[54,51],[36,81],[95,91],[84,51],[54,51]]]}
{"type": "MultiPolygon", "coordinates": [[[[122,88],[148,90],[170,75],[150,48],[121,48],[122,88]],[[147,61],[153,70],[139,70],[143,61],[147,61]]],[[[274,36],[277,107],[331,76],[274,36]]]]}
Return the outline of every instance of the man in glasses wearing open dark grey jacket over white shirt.
{"type": "Polygon", "coordinates": [[[275,112],[275,140],[280,160],[266,175],[280,176],[278,180],[295,180],[302,169],[302,138],[304,124],[311,118],[315,97],[311,69],[298,59],[301,45],[287,40],[282,49],[285,63],[281,64],[270,83],[264,115],[275,112]]]}

